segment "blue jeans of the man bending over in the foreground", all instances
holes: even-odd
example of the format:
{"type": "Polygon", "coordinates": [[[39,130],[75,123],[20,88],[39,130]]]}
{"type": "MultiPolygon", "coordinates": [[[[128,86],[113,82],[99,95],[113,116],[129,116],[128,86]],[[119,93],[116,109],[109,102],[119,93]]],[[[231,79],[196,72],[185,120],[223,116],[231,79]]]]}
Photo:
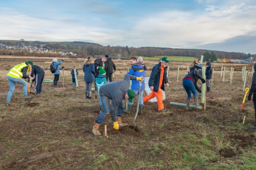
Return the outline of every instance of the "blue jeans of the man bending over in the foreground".
{"type": "MultiPolygon", "coordinates": [[[[101,112],[98,116],[98,118],[96,119],[96,123],[99,123],[101,124],[107,113],[109,112],[110,110],[110,103],[109,103],[109,97],[106,96],[105,94],[103,93],[99,93],[99,96],[101,98],[101,101],[102,101],[102,105],[103,105],[103,112],[101,112]]],[[[114,115],[113,113],[110,113],[111,114],[111,118],[112,118],[112,121],[117,121],[117,118],[116,116],[120,116],[122,117],[122,115],[124,114],[124,107],[125,107],[125,103],[122,101],[116,111],[116,114],[114,115]]],[[[112,109],[111,109],[112,110],[112,109]]]]}

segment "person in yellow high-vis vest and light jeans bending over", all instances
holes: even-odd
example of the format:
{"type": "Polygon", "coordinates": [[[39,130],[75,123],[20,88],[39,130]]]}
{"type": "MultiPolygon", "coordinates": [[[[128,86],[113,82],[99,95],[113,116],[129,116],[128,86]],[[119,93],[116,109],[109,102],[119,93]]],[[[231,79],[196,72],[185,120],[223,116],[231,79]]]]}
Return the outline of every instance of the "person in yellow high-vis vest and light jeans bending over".
{"type": "Polygon", "coordinates": [[[23,94],[24,99],[30,99],[32,96],[27,96],[28,92],[28,83],[24,79],[31,79],[27,72],[31,72],[33,68],[32,61],[26,61],[24,63],[15,65],[7,74],[7,79],[9,82],[10,90],[7,95],[5,105],[11,105],[11,96],[15,90],[15,84],[19,83],[23,85],[23,94]],[[23,79],[22,79],[23,78],[23,79]]]}

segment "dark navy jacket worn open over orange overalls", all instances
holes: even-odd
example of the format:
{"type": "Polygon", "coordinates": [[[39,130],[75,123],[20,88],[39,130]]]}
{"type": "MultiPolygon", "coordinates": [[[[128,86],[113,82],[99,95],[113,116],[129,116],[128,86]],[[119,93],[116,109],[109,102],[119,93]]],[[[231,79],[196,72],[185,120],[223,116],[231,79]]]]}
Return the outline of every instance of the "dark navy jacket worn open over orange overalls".
{"type": "MultiPolygon", "coordinates": [[[[163,77],[163,82],[161,86],[162,90],[164,90],[164,83],[168,83],[166,69],[167,67],[164,68],[164,77],[163,77]]],[[[153,67],[149,81],[148,81],[149,87],[154,86],[153,91],[155,92],[158,92],[159,83],[160,83],[160,74],[161,74],[161,62],[159,62],[153,67]]]]}

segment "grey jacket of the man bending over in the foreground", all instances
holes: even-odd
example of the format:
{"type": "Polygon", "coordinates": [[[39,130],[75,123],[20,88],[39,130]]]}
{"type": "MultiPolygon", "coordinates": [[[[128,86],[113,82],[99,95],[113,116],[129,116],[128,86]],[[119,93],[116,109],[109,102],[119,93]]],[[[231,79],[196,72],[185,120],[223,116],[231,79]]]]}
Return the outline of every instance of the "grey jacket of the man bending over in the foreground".
{"type": "Polygon", "coordinates": [[[126,74],[124,80],[112,81],[110,83],[103,84],[99,89],[99,95],[103,94],[109,99],[112,99],[110,111],[112,121],[117,121],[116,111],[125,98],[125,94],[130,87],[130,80],[136,80],[136,77],[126,74]]]}

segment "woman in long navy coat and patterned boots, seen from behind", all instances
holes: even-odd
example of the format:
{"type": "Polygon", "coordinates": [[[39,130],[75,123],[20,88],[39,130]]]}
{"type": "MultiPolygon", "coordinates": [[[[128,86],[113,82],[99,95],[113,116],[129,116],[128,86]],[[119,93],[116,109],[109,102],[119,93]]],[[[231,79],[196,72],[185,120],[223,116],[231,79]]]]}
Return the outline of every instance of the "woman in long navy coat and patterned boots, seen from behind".
{"type": "Polygon", "coordinates": [[[95,81],[94,74],[96,74],[94,62],[92,61],[91,56],[88,56],[87,61],[84,61],[83,72],[84,72],[84,81],[86,82],[86,91],[85,91],[86,99],[91,99],[92,98],[92,82],[95,81]]]}

